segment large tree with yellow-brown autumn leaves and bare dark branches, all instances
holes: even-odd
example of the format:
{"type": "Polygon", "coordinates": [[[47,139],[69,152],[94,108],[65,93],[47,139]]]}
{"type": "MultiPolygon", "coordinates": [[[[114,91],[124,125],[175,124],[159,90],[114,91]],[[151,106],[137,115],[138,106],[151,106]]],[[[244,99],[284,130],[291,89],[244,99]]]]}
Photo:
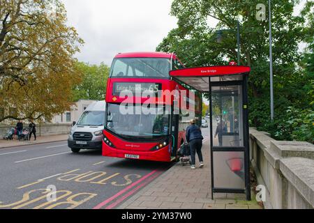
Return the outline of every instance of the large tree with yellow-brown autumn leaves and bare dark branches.
{"type": "Polygon", "coordinates": [[[68,110],[82,44],[59,0],[0,0],[0,106],[14,111],[0,121],[68,110]]]}

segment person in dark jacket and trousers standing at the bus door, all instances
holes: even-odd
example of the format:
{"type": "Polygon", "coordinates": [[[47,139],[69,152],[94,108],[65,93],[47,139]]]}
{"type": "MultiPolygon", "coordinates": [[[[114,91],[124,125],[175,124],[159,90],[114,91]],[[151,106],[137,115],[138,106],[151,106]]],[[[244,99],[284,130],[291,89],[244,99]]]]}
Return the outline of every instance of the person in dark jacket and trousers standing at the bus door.
{"type": "Polygon", "coordinates": [[[200,127],[195,125],[195,120],[192,119],[190,126],[186,129],[186,141],[190,144],[191,169],[195,169],[195,153],[197,153],[198,159],[200,160],[200,168],[204,167],[202,155],[203,139],[200,127]]]}

